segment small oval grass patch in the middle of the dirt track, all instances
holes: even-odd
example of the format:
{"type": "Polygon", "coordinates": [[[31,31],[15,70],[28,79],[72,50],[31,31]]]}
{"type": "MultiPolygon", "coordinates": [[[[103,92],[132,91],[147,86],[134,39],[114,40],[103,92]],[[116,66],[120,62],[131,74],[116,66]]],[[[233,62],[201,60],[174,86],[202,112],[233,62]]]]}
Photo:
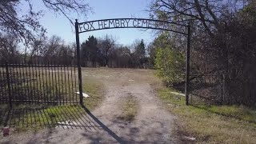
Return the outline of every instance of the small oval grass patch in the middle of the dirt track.
{"type": "Polygon", "coordinates": [[[138,114],[138,102],[132,96],[128,95],[121,103],[122,114],[118,118],[131,122],[134,120],[134,117],[138,114]]]}

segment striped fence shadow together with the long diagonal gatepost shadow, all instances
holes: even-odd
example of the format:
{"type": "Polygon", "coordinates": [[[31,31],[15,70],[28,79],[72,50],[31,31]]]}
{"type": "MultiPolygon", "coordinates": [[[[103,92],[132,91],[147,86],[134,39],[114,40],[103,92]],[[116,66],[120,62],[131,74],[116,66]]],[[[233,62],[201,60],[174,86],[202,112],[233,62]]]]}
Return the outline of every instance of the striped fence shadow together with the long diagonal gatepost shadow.
{"type": "MultiPolygon", "coordinates": [[[[31,107],[1,107],[0,110],[0,129],[2,127],[10,127],[12,130],[30,129],[38,130],[49,128],[46,140],[57,134],[55,128],[65,130],[80,129],[82,131],[105,131],[111,138],[118,143],[125,143],[112,130],[103,124],[86,108],[86,106],[55,106],[50,108],[31,108],[31,107]]],[[[34,133],[36,134],[36,132],[34,133]]],[[[98,142],[93,137],[83,135],[90,138],[93,142],[98,142]]],[[[12,140],[6,141],[11,143],[12,140]]],[[[29,142],[38,142],[38,138],[31,138],[29,142]]]]}

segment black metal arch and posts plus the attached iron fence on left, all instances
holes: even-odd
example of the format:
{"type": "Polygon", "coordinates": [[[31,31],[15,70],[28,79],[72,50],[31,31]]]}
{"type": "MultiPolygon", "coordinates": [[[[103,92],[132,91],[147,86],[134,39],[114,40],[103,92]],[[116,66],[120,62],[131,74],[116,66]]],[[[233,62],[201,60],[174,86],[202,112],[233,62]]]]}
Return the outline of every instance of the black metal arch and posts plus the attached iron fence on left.
{"type": "Polygon", "coordinates": [[[189,104],[187,89],[190,74],[190,24],[184,25],[145,18],[114,18],[81,23],[76,20],[77,66],[74,66],[74,62],[65,65],[40,61],[0,63],[0,103],[9,103],[10,107],[13,103],[64,105],[80,102],[83,104],[79,34],[116,28],[166,30],[187,37],[186,104],[189,104]],[[172,25],[180,26],[184,30],[173,30],[172,25]],[[77,90],[79,90],[79,97],[76,94],[77,90]]]}

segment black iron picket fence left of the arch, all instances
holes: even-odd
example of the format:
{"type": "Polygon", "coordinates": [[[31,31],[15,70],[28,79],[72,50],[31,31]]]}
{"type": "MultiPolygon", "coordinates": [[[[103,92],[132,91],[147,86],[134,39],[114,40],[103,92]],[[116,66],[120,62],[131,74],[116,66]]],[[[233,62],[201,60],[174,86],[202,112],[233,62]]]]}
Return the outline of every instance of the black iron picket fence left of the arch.
{"type": "Polygon", "coordinates": [[[0,63],[0,103],[77,104],[76,69],[71,63],[0,63]]]}

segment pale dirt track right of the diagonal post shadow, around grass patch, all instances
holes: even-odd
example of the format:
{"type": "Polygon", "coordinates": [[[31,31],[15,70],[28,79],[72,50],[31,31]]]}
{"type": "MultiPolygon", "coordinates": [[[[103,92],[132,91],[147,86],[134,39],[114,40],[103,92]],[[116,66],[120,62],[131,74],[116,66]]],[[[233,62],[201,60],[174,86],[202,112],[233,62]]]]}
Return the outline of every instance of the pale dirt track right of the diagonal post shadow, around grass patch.
{"type": "Polygon", "coordinates": [[[153,74],[143,75],[148,71],[119,69],[105,74],[106,77],[101,80],[106,86],[106,99],[102,106],[94,110],[94,114],[125,142],[175,142],[171,133],[174,115],[162,109],[162,103],[150,86],[149,80],[154,79],[153,74]],[[132,122],[118,119],[122,113],[118,103],[128,94],[133,95],[139,104],[138,115],[132,122]]]}

